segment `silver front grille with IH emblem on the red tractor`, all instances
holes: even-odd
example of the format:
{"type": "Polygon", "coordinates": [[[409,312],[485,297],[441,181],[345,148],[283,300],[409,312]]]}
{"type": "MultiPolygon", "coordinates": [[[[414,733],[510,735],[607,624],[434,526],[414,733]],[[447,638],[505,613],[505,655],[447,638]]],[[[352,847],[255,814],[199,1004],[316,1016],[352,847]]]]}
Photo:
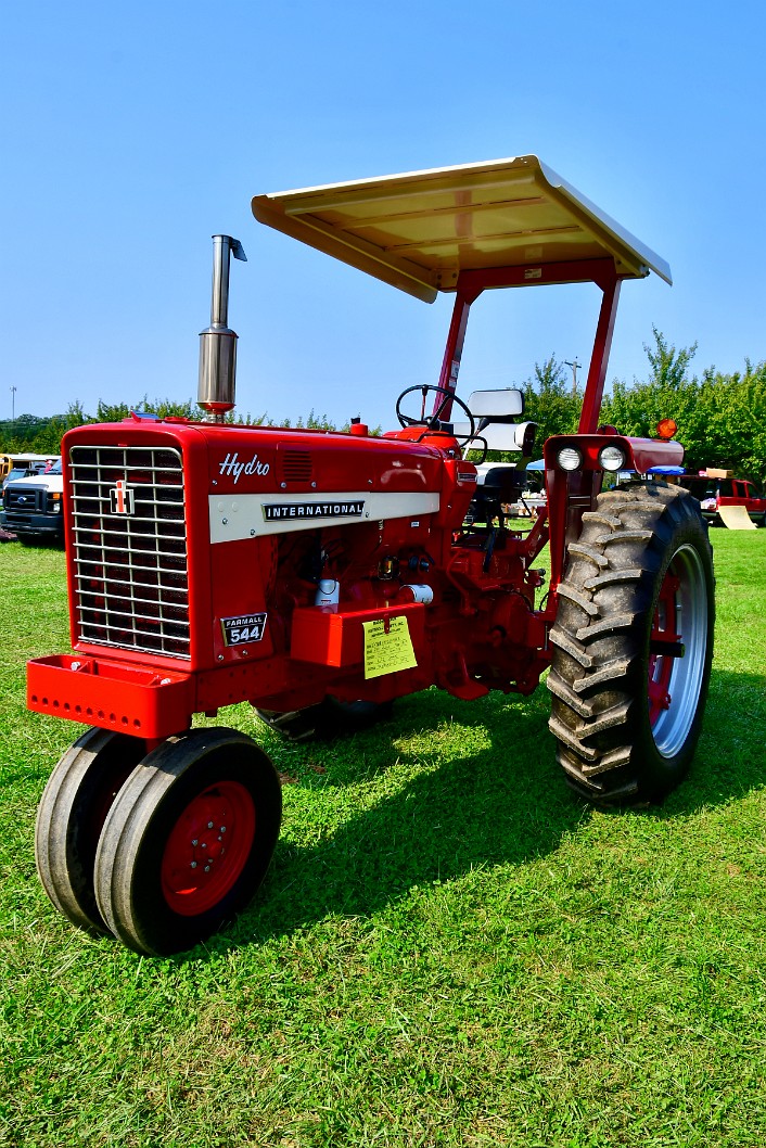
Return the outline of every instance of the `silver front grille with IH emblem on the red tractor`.
{"type": "Polygon", "coordinates": [[[167,447],[72,447],[78,637],[191,657],[184,468],[167,447]]]}

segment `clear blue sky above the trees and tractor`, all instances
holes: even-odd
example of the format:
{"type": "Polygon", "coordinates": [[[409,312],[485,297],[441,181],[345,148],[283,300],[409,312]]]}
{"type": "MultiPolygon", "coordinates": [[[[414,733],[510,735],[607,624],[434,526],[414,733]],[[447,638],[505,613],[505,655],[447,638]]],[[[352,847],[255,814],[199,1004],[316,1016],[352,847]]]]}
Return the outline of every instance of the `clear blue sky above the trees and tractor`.
{"type": "MultiPolygon", "coordinates": [[[[238,409],[389,427],[433,382],[428,307],[256,224],[256,193],[536,153],[671,264],[627,284],[610,379],[655,324],[694,366],[766,357],[763,6],[388,0],[15,5],[0,39],[0,418],[196,397],[210,235],[241,240],[238,409]]],[[[587,363],[598,292],[496,292],[462,393],[587,363]]]]}

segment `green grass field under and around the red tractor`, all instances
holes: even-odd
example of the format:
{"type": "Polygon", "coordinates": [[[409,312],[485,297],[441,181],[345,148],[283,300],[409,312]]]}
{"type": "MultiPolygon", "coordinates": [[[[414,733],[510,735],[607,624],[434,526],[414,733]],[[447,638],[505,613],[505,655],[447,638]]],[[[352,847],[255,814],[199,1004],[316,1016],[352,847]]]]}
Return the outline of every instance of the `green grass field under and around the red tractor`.
{"type": "Polygon", "coordinates": [[[659,809],[566,789],[548,693],[408,698],[286,746],[283,837],[240,921],[171,960],[57,916],[34,810],[79,727],[26,713],[67,650],[60,551],[0,546],[0,1143],[760,1146],[766,532],[713,532],[703,739],[659,809]]]}

